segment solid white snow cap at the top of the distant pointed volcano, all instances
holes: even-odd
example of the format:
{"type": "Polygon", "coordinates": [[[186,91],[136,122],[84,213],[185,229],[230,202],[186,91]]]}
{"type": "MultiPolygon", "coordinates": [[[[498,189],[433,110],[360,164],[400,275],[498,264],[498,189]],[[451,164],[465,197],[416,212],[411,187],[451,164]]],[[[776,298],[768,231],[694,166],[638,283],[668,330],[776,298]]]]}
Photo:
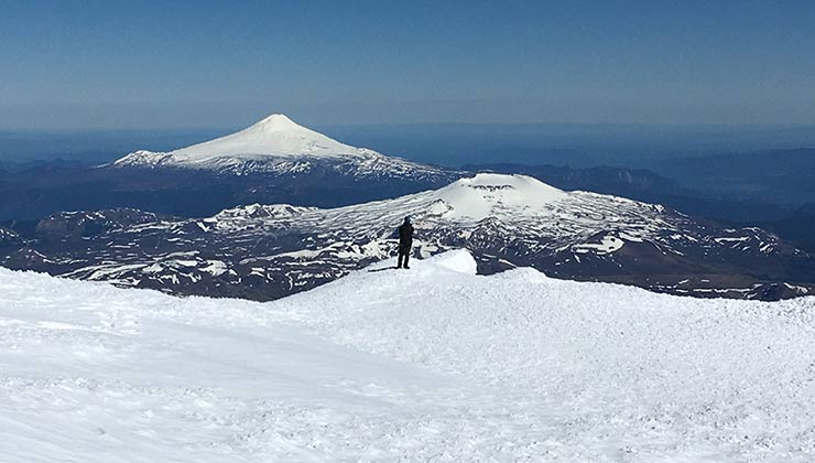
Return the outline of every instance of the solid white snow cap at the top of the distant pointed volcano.
{"type": "Polygon", "coordinates": [[[239,132],[173,151],[178,162],[203,162],[221,157],[352,155],[362,151],[275,114],[239,132]]]}

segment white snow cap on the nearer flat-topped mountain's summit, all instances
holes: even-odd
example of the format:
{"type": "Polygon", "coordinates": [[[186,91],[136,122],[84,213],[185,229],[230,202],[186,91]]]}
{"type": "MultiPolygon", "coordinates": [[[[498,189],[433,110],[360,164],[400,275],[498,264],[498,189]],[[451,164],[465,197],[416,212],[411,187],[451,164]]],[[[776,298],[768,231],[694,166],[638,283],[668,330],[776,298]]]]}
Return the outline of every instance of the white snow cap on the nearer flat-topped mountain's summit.
{"type": "Polygon", "coordinates": [[[453,206],[452,214],[482,219],[501,209],[542,209],[568,194],[526,175],[479,173],[438,190],[439,200],[453,206]]]}

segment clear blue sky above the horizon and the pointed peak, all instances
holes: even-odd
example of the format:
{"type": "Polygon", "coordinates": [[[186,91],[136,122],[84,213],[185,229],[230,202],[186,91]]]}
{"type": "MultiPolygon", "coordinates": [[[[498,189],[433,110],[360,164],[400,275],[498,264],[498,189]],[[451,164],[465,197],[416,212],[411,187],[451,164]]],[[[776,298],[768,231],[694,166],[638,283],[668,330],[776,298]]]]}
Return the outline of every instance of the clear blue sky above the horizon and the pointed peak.
{"type": "Polygon", "coordinates": [[[815,122],[815,1],[0,0],[0,129],[815,122]]]}

